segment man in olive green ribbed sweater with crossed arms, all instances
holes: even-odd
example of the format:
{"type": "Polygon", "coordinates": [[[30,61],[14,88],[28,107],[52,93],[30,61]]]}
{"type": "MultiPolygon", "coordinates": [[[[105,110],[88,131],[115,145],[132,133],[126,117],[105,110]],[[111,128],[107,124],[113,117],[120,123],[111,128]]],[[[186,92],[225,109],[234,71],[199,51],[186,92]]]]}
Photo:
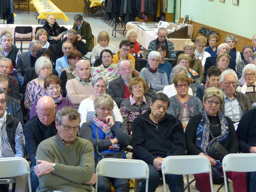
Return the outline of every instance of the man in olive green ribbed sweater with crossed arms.
{"type": "Polygon", "coordinates": [[[37,192],[92,191],[94,147],[77,137],[80,114],[73,107],[63,107],[55,117],[57,135],[41,142],[37,149],[35,174],[39,178],[37,192]]]}

